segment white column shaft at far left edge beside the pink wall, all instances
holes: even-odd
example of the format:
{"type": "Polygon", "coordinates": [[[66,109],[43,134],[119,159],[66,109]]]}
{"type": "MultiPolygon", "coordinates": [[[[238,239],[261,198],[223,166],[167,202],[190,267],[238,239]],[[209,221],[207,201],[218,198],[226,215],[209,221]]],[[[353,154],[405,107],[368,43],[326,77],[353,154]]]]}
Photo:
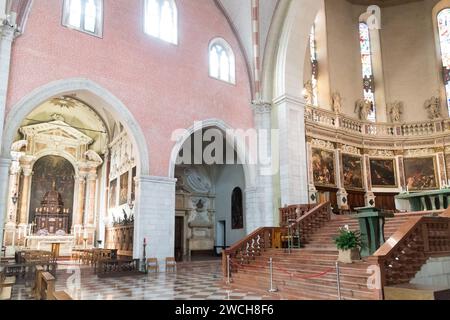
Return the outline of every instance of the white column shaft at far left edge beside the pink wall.
{"type": "MultiPolygon", "coordinates": [[[[14,24],[15,21],[10,23],[14,24]]],[[[9,73],[11,65],[11,48],[14,41],[15,28],[8,24],[0,24],[0,150],[3,146],[3,126],[5,122],[5,109],[9,73]]]]}

